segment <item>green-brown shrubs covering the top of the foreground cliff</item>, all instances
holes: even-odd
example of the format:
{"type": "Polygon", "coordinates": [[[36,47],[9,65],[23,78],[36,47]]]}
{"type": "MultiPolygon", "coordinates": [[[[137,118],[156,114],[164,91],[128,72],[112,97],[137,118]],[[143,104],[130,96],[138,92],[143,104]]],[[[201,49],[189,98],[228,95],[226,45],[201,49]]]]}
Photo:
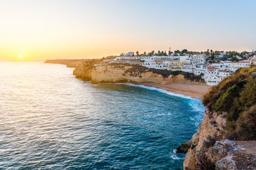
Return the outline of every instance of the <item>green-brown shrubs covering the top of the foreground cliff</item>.
{"type": "Polygon", "coordinates": [[[212,111],[227,112],[226,138],[256,139],[256,67],[239,69],[212,87],[203,104],[212,111]]]}

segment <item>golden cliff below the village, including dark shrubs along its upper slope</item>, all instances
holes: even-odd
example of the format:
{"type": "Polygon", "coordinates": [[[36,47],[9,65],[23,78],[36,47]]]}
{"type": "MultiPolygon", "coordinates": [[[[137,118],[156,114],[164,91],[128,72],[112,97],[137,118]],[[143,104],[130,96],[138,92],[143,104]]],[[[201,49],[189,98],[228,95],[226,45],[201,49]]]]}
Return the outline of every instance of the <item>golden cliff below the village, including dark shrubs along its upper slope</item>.
{"type": "Polygon", "coordinates": [[[147,67],[130,64],[104,64],[94,66],[84,62],[74,69],[77,78],[92,83],[100,82],[130,82],[130,83],[204,83],[201,76],[182,71],[168,71],[159,69],[148,69],[147,67]]]}

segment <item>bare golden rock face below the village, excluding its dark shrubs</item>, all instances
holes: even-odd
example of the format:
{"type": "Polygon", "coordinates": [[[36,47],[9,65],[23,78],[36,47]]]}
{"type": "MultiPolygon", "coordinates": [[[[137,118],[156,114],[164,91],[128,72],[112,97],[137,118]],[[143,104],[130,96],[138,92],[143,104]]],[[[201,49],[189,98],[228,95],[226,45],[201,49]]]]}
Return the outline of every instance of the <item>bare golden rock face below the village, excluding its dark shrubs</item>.
{"type": "MultiPolygon", "coordinates": [[[[172,83],[172,82],[191,82],[186,80],[183,75],[170,75],[164,77],[161,74],[152,73],[147,70],[136,70],[134,65],[129,64],[106,64],[88,67],[80,64],[74,69],[76,78],[82,78],[92,83],[100,82],[130,82],[130,83],[172,83]]],[[[198,82],[197,82],[198,83],[198,82]]]]}

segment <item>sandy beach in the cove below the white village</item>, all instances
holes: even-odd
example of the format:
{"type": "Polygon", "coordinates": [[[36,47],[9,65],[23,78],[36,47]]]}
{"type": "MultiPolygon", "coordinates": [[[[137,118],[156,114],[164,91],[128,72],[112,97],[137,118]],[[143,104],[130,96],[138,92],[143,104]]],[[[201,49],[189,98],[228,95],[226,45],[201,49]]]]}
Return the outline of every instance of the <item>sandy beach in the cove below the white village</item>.
{"type": "Polygon", "coordinates": [[[190,96],[193,98],[204,97],[204,94],[207,92],[210,86],[208,85],[196,85],[196,84],[188,84],[188,83],[172,83],[167,85],[162,85],[159,83],[142,83],[141,85],[146,85],[149,87],[156,87],[159,89],[164,89],[169,92],[175,92],[177,94],[184,94],[186,96],[190,96]]]}

